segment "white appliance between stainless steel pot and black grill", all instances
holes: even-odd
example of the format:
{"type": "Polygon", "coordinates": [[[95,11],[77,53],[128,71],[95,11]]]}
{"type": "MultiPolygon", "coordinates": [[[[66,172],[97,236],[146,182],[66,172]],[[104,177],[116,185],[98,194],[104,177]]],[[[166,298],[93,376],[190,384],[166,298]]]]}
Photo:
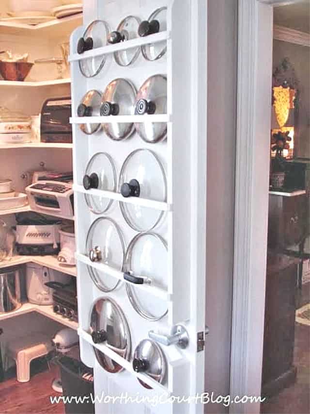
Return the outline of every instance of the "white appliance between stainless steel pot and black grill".
{"type": "Polygon", "coordinates": [[[27,263],[26,265],[26,290],[30,303],[38,305],[53,304],[53,290],[46,286],[46,282],[69,283],[70,276],[49,269],[48,267],[27,263]]]}

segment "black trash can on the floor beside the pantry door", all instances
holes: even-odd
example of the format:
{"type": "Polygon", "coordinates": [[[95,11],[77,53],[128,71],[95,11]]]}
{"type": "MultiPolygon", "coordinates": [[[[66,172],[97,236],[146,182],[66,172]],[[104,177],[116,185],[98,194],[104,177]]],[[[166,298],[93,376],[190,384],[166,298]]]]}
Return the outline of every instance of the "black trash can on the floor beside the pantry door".
{"type": "Polygon", "coordinates": [[[94,414],[94,404],[91,399],[93,393],[93,370],[82,362],[67,356],[61,357],[58,362],[62,377],[63,397],[80,397],[65,403],[66,414],[94,414]],[[82,397],[88,397],[81,402],[82,397]]]}

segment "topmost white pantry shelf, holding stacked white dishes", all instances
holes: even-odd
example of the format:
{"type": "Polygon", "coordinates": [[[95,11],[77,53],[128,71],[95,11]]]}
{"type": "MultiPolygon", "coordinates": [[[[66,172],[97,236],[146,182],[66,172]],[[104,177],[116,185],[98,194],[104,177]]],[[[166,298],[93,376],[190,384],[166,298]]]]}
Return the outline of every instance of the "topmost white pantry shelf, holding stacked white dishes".
{"type": "Polygon", "coordinates": [[[47,23],[28,25],[0,21],[0,34],[14,34],[19,36],[47,36],[48,38],[69,36],[73,30],[83,22],[82,14],[55,19],[47,23]]]}

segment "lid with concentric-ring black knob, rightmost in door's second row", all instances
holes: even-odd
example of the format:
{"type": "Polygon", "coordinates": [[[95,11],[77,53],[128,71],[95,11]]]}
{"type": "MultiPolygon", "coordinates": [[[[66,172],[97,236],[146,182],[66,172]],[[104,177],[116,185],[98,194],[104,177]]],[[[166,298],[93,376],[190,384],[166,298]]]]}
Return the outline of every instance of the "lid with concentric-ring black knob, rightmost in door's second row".
{"type": "MultiPolygon", "coordinates": [[[[167,114],[166,76],[151,76],[143,83],[137,94],[135,114],[167,114]]],[[[166,122],[146,121],[135,125],[140,137],[146,142],[155,143],[167,137],[166,122]]]]}

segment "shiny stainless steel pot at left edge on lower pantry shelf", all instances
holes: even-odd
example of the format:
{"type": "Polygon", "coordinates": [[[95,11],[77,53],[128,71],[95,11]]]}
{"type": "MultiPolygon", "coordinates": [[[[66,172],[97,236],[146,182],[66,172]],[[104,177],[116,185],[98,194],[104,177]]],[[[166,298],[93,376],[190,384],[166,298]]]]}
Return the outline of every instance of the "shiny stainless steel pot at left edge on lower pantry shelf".
{"type": "Polygon", "coordinates": [[[0,315],[21,307],[19,267],[0,269],[0,315]]]}

